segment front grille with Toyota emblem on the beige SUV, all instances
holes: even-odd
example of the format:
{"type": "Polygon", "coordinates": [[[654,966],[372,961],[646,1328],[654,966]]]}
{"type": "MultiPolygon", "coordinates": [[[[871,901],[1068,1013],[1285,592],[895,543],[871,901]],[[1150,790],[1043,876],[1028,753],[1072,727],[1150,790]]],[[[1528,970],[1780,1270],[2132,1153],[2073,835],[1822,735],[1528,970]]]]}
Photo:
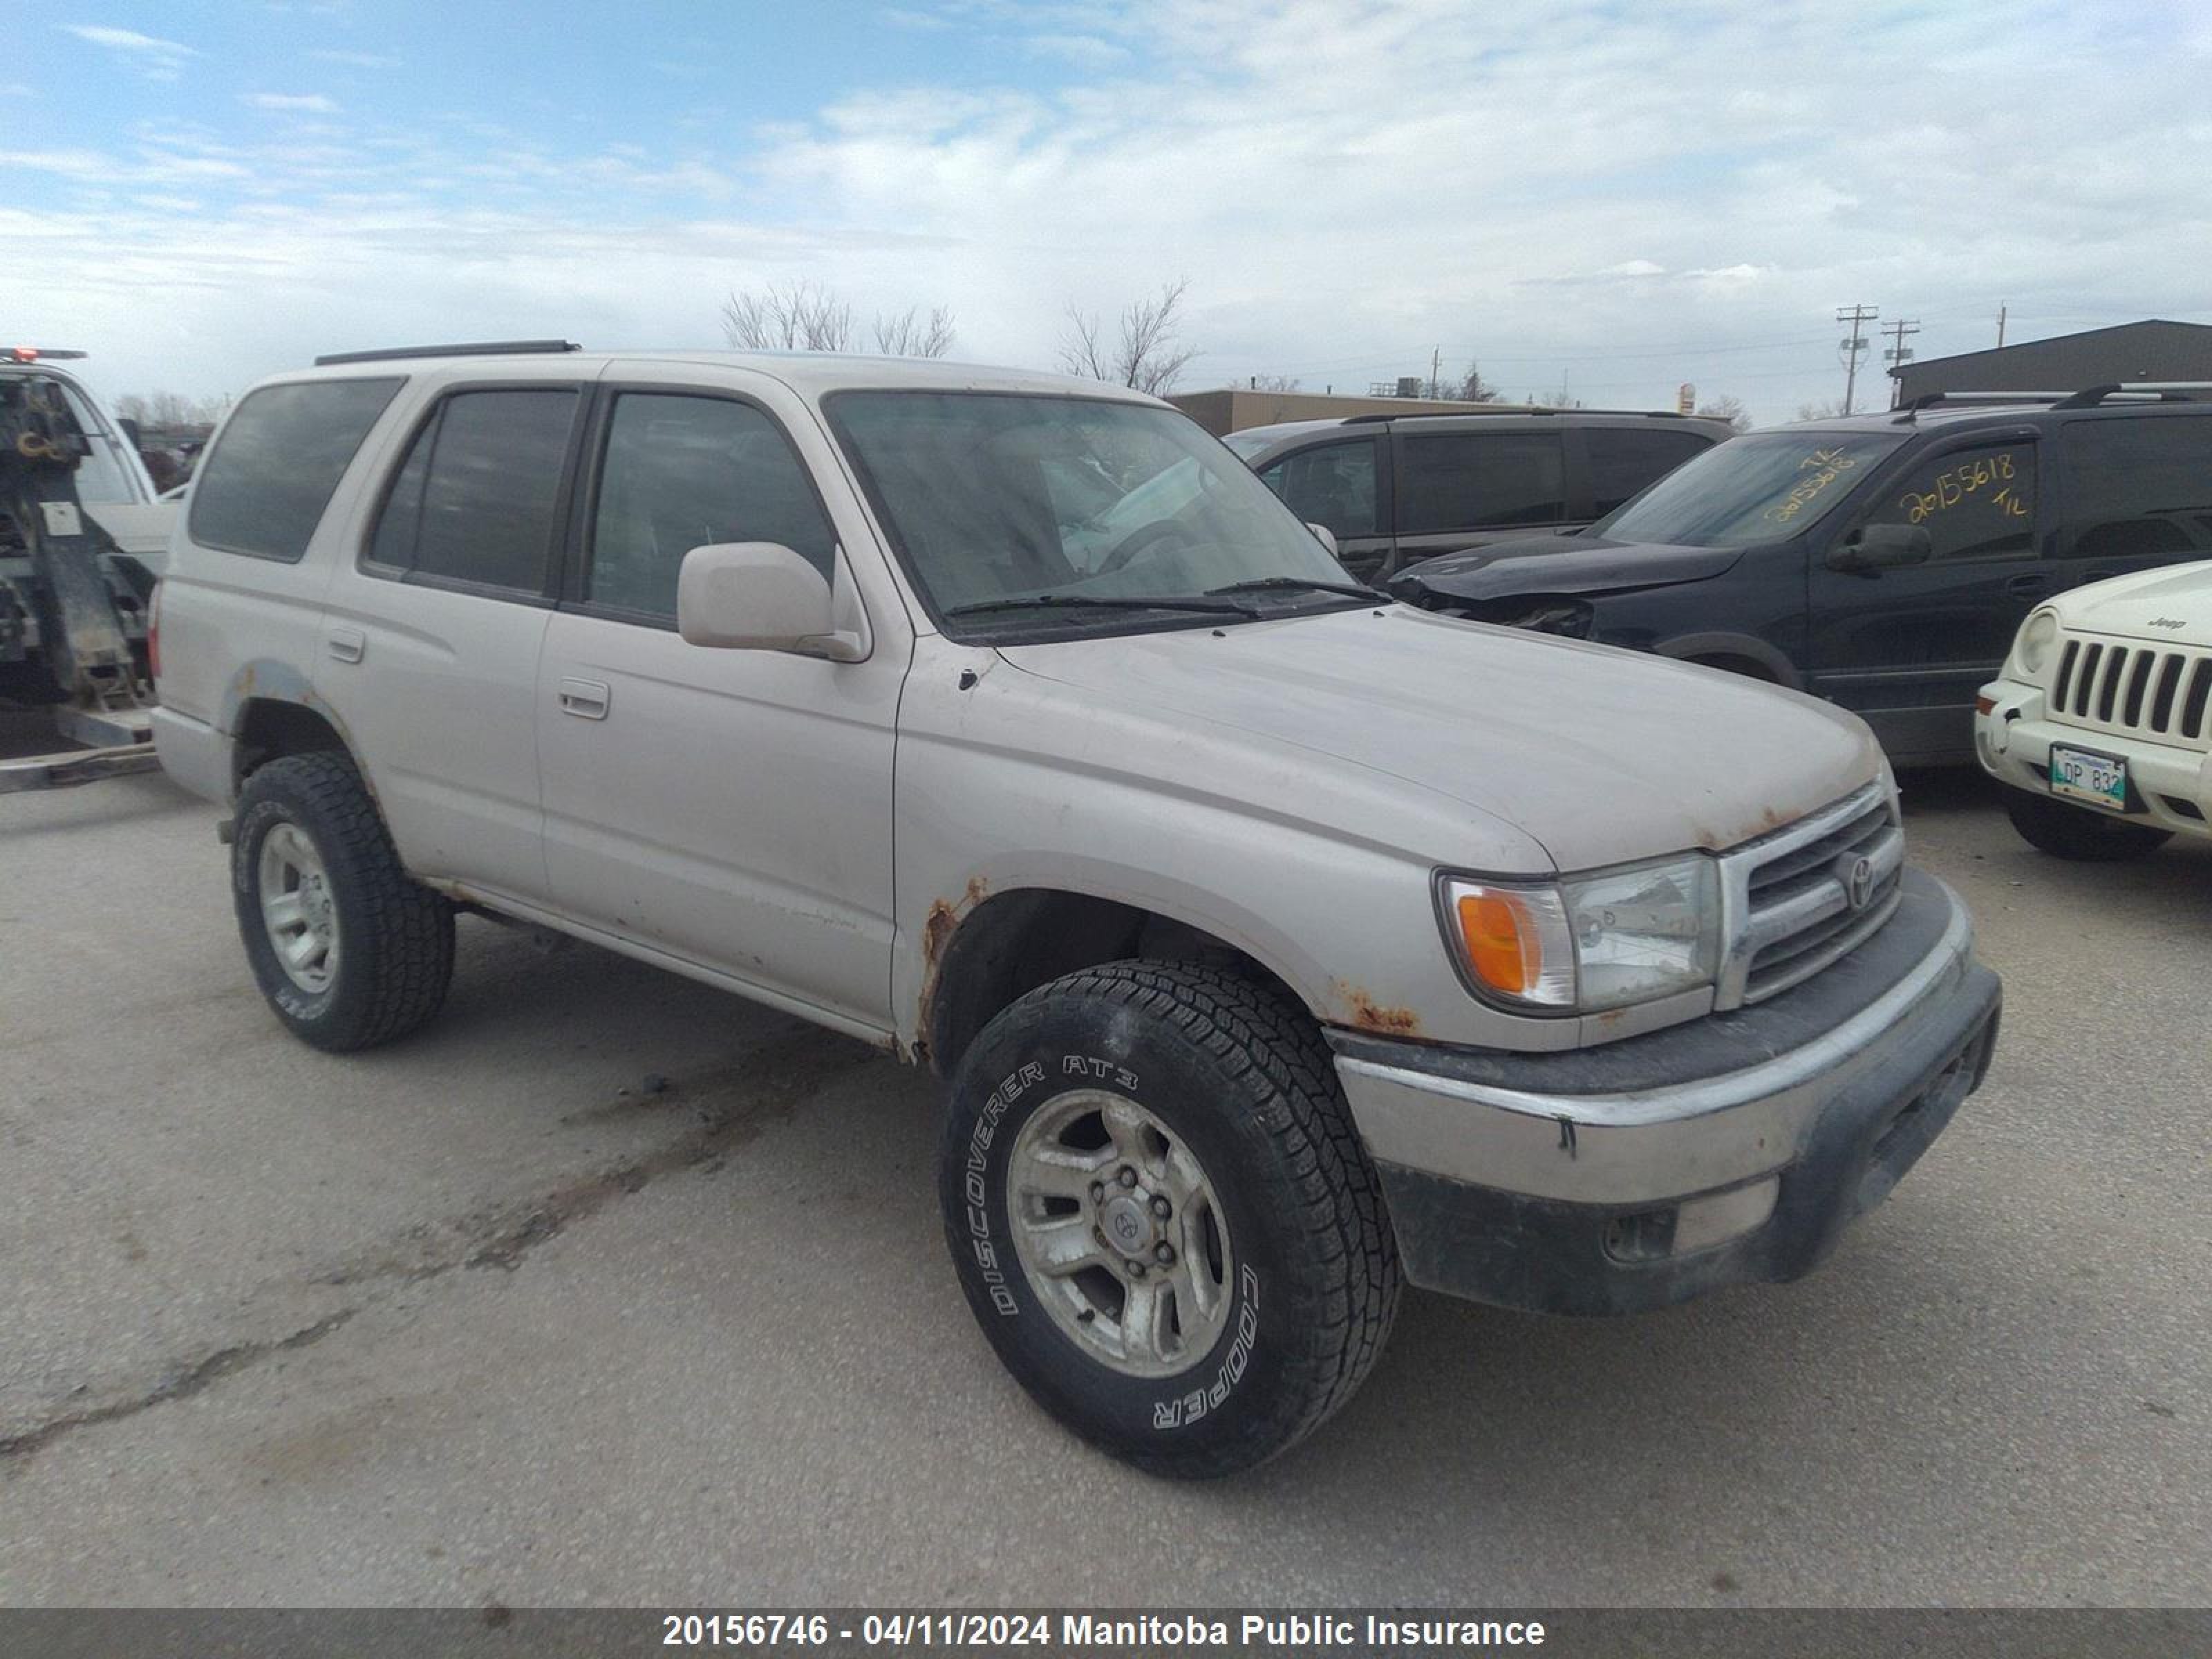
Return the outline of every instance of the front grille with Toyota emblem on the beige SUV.
{"type": "Polygon", "coordinates": [[[1898,907],[1905,830],[1878,783],[1721,856],[1728,951],[1714,1006],[1787,991],[1898,907]]]}

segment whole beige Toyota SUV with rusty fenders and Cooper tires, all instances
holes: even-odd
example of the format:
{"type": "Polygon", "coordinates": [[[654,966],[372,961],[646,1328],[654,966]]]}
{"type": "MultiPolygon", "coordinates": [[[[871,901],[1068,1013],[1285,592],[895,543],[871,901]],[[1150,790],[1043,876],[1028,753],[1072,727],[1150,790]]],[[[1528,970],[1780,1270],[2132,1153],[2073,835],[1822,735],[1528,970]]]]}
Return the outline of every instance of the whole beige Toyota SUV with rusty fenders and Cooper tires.
{"type": "Polygon", "coordinates": [[[487,911],[933,1066],[978,1323],[1161,1473],[1312,1431],[1402,1281],[1807,1272],[1997,1029],[1863,723],[1391,604],[1086,380],[325,358],[215,438],[159,692],[292,1031],[414,1029],[487,911]]]}

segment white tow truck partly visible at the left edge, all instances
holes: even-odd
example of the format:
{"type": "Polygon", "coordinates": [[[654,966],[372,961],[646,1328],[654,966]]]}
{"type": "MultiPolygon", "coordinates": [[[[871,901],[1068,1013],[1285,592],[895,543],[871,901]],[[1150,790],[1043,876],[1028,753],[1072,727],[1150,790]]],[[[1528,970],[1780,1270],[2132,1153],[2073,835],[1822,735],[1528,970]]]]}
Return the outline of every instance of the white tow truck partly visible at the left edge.
{"type": "Polygon", "coordinates": [[[150,624],[177,502],[60,361],[0,347],[0,706],[80,748],[0,761],[0,794],[155,765],[150,624]]]}

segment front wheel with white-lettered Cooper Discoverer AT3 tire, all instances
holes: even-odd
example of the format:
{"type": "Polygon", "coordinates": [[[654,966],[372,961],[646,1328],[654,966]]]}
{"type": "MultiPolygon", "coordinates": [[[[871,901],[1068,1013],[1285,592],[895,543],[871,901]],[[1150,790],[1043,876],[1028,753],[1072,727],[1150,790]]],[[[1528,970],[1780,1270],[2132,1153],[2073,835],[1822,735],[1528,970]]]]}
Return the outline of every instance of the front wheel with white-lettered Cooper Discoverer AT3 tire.
{"type": "Polygon", "coordinates": [[[1000,1013],[953,1077],[940,1197],[1006,1369],[1161,1475],[1234,1473],[1312,1433],[1398,1305],[1329,1048],[1234,971],[1113,962],[1000,1013]]]}

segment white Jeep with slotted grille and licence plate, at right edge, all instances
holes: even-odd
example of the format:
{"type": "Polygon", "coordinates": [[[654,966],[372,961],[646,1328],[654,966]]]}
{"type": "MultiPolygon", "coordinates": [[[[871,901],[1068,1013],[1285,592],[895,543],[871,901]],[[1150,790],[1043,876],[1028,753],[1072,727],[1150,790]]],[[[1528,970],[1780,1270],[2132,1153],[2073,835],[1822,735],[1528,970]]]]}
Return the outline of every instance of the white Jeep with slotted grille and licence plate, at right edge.
{"type": "Polygon", "coordinates": [[[2059,858],[2212,834],[2212,564],[2093,582],[2035,611],[1975,699],[1973,748],[2013,785],[2013,827],[2059,858]]]}

